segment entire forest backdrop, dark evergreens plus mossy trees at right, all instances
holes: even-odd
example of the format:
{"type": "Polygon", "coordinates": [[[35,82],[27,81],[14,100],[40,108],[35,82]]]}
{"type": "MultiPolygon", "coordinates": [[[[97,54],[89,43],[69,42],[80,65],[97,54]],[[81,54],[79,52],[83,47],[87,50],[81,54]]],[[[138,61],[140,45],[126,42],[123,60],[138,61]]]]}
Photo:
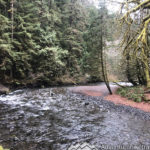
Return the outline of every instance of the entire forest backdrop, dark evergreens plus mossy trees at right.
{"type": "Polygon", "coordinates": [[[1,0],[0,82],[26,86],[104,81],[102,49],[120,31],[119,53],[125,63],[121,74],[134,85],[149,87],[149,0],[122,2],[121,13],[109,13],[105,1],[99,8],[93,3],[1,0]]]}

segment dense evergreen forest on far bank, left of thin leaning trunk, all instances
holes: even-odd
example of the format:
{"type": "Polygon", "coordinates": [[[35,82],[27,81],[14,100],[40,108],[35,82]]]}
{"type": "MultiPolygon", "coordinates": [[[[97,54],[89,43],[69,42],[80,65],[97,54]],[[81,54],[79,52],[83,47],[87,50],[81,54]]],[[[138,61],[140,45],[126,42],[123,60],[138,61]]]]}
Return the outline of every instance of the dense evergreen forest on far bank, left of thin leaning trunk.
{"type": "Polygon", "coordinates": [[[0,82],[101,81],[101,16],[86,0],[0,0],[0,82]]]}

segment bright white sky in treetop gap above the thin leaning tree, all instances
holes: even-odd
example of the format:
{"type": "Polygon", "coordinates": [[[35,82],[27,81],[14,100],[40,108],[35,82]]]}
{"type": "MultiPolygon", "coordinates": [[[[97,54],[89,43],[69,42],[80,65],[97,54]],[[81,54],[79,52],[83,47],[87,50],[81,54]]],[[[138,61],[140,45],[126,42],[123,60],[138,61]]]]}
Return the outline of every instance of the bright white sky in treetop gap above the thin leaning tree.
{"type": "MultiPolygon", "coordinates": [[[[98,2],[100,0],[93,0],[93,2],[95,3],[95,6],[98,7],[98,2]]],[[[115,2],[122,2],[123,0],[105,0],[107,8],[110,12],[117,12],[120,10],[120,4],[115,3],[115,2]],[[112,2],[110,2],[112,1],[112,2]]]]}

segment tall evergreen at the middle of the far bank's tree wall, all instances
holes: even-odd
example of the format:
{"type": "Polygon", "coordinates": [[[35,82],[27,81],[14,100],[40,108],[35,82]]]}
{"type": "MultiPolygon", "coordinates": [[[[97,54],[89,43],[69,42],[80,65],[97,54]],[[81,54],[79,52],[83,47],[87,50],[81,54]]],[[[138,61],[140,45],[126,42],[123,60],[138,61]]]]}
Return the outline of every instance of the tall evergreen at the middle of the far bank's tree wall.
{"type": "Polygon", "coordinates": [[[86,29],[86,10],[80,2],[66,2],[62,8],[63,34],[61,45],[68,50],[67,70],[73,74],[81,72],[80,60],[82,59],[83,31],[86,29]]]}

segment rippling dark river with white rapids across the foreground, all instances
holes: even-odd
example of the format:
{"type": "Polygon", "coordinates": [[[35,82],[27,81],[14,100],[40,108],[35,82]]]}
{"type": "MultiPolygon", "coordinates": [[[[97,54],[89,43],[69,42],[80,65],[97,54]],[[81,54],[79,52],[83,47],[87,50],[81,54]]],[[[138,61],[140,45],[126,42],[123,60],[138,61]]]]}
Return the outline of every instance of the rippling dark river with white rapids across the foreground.
{"type": "MultiPolygon", "coordinates": [[[[11,150],[67,150],[71,144],[150,146],[150,121],[108,109],[68,88],[18,90],[0,97],[0,144],[11,150]]],[[[119,149],[119,148],[118,148],[119,149]]]]}

